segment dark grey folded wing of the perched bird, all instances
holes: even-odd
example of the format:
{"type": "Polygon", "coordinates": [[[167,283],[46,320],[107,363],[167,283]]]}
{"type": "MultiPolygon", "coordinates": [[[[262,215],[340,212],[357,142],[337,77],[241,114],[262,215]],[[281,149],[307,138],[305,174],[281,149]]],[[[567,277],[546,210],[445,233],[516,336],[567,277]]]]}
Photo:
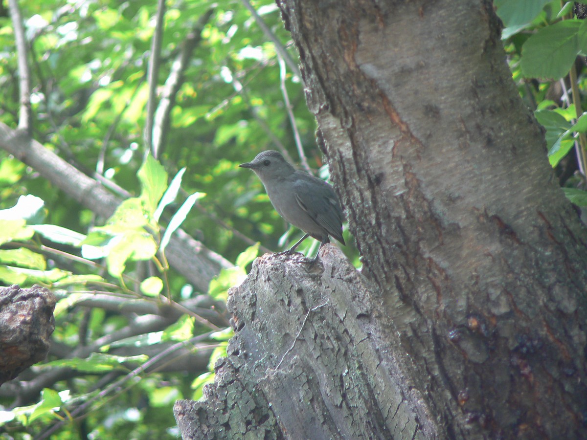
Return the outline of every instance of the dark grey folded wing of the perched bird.
{"type": "Polygon", "coordinates": [[[322,182],[321,185],[323,184],[325,191],[319,192],[323,194],[307,191],[306,187],[301,185],[295,188],[296,202],[318,226],[345,244],[345,239],[342,238],[342,210],[334,189],[326,182],[318,178],[316,180],[322,182]]]}

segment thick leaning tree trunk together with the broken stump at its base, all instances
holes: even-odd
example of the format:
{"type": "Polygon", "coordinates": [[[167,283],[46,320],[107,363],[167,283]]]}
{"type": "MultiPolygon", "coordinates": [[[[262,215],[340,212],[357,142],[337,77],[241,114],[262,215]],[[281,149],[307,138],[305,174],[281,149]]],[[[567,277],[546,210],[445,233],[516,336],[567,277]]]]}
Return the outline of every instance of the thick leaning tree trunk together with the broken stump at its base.
{"type": "Polygon", "coordinates": [[[491,3],[278,5],[364,267],[261,260],[184,438],[584,438],[587,233],[491,3]]]}

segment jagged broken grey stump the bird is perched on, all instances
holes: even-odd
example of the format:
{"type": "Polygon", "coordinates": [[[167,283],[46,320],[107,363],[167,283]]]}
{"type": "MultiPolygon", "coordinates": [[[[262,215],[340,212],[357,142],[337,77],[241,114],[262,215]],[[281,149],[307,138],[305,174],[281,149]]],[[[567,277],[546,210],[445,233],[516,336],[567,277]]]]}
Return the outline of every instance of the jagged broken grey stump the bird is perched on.
{"type": "Polygon", "coordinates": [[[314,266],[300,254],[255,260],[228,309],[235,336],[214,385],[204,402],[176,403],[184,440],[434,436],[365,279],[335,246],[314,266]]]}

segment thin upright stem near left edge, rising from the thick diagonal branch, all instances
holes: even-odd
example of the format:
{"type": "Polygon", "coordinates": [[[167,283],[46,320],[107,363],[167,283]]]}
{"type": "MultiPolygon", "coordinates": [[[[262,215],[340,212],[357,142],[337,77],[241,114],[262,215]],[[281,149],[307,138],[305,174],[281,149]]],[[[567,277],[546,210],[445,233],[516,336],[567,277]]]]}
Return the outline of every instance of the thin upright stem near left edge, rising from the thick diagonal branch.
{"type": "Polygon", "coordinates": [[[18,56],[19,97],[18,128],[32,134],[33,116],[31,109],[31,69],[28,63],[28,46],[26,44],[25,28],[22,24],[21,10],[18,0],[8,0],[8,10],[14,28],[16,54],[18,56]]]}

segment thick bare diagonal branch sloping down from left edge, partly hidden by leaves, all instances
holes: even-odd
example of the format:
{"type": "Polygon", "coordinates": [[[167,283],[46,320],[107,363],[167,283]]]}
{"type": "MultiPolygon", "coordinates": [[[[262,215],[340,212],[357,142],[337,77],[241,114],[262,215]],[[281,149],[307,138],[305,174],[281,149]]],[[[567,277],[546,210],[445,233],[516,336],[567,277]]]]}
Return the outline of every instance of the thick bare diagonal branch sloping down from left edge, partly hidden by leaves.
{"type": "MultiPolygon", "coordinates": [[[[12,130],[0,123],[0,148],[13,154],[18,160],[30,165],[53,185],[86,208],[103,218],[111,216],[122,201],[108,192],[99,182],[83,174],[21,130],[12,130]]],[[[167,246],[167,259],[188,282],[201,292],[207,292],[210,280],[222,268],[232,263],[221,255],[210,251],[191,238],[183,229],[178,229],[167,246]]]]}

